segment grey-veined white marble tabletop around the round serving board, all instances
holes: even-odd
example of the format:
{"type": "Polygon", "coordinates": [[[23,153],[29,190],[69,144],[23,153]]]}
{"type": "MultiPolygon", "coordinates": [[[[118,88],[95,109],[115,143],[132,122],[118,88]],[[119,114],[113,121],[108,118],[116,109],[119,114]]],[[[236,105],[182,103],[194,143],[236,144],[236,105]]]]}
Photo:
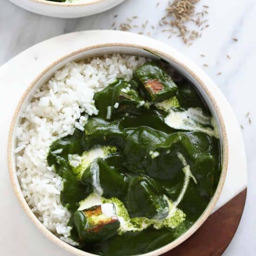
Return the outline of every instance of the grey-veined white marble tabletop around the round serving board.
{"type": "MultiPolygon", "coordinates": [[[[256,163],[256,135],[255,130],[256,109],[254,103],[254,67],[256,61],[256,36],[253,35],[256,22],[256,2],[255,0],[202,0],[202,3],[209,5],[209,24],[208,30],[204,31],[202,38],[195,41],[193,46],[185,46],[180,38],[172,36],[168,39],[168,34],[162,33],[162,27],[157,27],[158,20],[164,15],[164,7],[167,0],[160,0],[159,7],[155,7],[157,0],[127,0],[114,9],[95,16],[74,19],[61,20],[54,18],[42,17],[37,14],[28,13],[7,0],[0,0],[0,64],[9,60],[22,50],[34,45],[37,42],[45,40],[55,35],[80,31],[87,29],[110,29],[113,22],[126,22],[127,17],[139,16],[135,24],[141,24],[148,21],[146,32],[150,32],[152,37],[162,40],[169,45],[177,48],[187,55],[199,66],[208,64],[204,67],[205,72],[209,74],[213,81],[219,86],[232,105],[235,114],[241,124],[243,124],[243,136],[248,159],[249,171],[249,190],[248,199],[244,215],[226,255],[255,255],[255,195],[253,182],[256,174],[253,170],[253,164],[256,163]],[[115,14],[119,16],[114,19],[115,14]],[[150,26],[155,26],[155,30],[150,26]],[[234,42],[232,37],[238,38],[234,42]],[[200,57],[205,54],[206,57],[200,57]],[[226,57],[229,54],[231,59],[226,57]],[[216,75],[218,72],[221,75],[216,75]],[[249,92],[249,93],[248,93],[249,92]],[[250,112],[252,124],[249,124],[246,113],[250,112]]],[[[139,32],[138,29],[135,32],[139,32]]],[[[72,41],[69,42],[72,44],[72,41]]],[[[22,68],[22,67],[21,67],[22,68]]],[[[4,85],[2,85],[4,86],[4,85]]],[[[4,120],[2,120],[4,121],[4,120]]],[[[5,148],[2,148],[5,150],[5,148]]],[[[6,172],[6,170],[2,170],[6,172]]],[[[8,196],[9,202],[13,202],[14,194],[11,191],[8,174],[3,175],[0,186],[0,195],[8,196]],[[3,193],[8,194],[3,194],[3,193]]],[[[6,202],[6,201],[5,201],[6,202]]],[[[7,205],[9,207],[9,205],[7,205]]],[[[2,205],[1,210],[4,210],[2,205]]],[[[42,236],[42,243],[33,243],[31,234],[27,230],[36,229],[31,222],[27,222],[27,216],[21,209],[16,209],[17,219],[13,222],[26,222],[26,230],[7,229],[0,235],[0,251],[3,255],[45,255],[49,252],[51,255],[69,255],[63,252],[57,246],[52,246],[43,235],[39,232],[37,236],[42,236]],[[13,241],[18,243],[17,246],[4,246],[6,237],[13,237],[13,241]],[[22,239],[18,239],[22,237],[22,239]],[[32,242],[32,243],[31,243],[32,242]],[[19,244],[22,243],[22,244],[19,244]],[[18,250],[17,250],[18,248],[18,250]],[[50,250],[51,249],[51,250],[50,250]]],[[[4,216],[4,215],[1,215],[4,216]]],[[[4,218],[3,218],[4,219],[4,218]]],[[[13,226],[13,225],[12,225],[13,226]]]]}

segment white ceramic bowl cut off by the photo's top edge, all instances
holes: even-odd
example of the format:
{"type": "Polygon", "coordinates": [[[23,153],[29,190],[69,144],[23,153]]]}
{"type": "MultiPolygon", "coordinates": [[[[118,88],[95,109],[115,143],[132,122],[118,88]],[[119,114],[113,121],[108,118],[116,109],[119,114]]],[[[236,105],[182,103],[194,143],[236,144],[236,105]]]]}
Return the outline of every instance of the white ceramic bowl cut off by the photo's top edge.
{"type": "Polygon", "coordinates": [[[102,13],[124,0],[80,0],[73,3],[47,0],[10,0],[14,4],[33,13],[58,18],[79,18],[102,13]]]}

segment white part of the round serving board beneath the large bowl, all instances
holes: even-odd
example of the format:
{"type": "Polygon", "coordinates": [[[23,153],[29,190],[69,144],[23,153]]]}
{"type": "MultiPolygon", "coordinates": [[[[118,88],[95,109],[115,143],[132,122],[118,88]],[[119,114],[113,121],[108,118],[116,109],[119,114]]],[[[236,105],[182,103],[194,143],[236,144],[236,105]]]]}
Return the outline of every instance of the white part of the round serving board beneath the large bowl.
{"type": "MultiPolygon", "coordinates": [[[[95,43],[95,40],[99,43],[113,42],[121,40],[124,36],[122,32],[112,31],[113,36],[109,36],[109,33],[110,31],[98,30],[57,36],[28,48],[0,67],[0,145],[2,149],[0,154],[0,202],[2,205],[0,224],[2,230],[4,230],[4,235],[0,235],[0,240],[5,241],[5,247],[7,246],[10,252],[8,255],[17,255],[19,253],[15,250],[13,242],[24,243],[24,246],[31,247],[31,251],[33,251],[33,248],[34,250],[39,249],[40,254],[38,256],[45,255],[44,252],[47,251],[51,252],[51,255],[56,255],[61,250],[46,238],[42,238],[43,236],[38,234],[40,232],[32,227],[33,224],[25,217],[25,213],[22,213],[19,203],[12,192],[7,171],[7,135],[14,109],[28,85],[52,62],[77,49],[89,46],[93,42],[95,43]],[[3,211],[3,209],[5,210],[3,211]],[[31,243],[28,245],[27,241],[31,243]]],[[[127,35],[127,43],[141,40],[145,44],[158,43],[141,35],[127,35]]],[[[209,91],[215,95],[221,109],[229,141],[228,173],[222,194],[215,208],[216,210],[246,188],[247,166],[240,126],[228,101],[217,86],[211,85],[209,91]]],[[[61,251],[60,255],[69,254],[61,251]]]]}

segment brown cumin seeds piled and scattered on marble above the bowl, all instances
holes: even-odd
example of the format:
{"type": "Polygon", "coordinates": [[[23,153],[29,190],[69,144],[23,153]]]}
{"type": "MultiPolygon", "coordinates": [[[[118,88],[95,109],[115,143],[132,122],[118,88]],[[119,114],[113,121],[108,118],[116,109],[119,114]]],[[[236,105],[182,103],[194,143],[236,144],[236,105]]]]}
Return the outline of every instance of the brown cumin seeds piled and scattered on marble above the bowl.
{"type": "MultiPolygon", "coordinates": [[[[138,34],[148,36],[151,36],[151,33],[147,31],[149,27],[153,30],[152,32],[162,29],[163,33],[169,33],[168,39],[175,34],[181,37],[185,44],[192,45],[193,40],[201,37],[202,30],[209,27],[208,20],[204,18],[208,14],[209,6],[203,5],[201,6],[202,11],[196,12],[195,7],[198,2],[200,0],[170,0],[167,7],[165,7],[166,14],[159,20],[158,25],[148,24],[148,20],[141,24],[135,24],[134,22],[136,22],[138,16],[132,16],[119,25],[114,22],[111,27],[114,30],[135,30],[138,34]],[[188,27],[194,27],[194,29],[189,29],[188,27]]],[[[160,2],[156,4],[156,10],[159,10],[159,6],[160,2]]],[[[116,14],[114,18],[117,16],[116,14]]]]}

